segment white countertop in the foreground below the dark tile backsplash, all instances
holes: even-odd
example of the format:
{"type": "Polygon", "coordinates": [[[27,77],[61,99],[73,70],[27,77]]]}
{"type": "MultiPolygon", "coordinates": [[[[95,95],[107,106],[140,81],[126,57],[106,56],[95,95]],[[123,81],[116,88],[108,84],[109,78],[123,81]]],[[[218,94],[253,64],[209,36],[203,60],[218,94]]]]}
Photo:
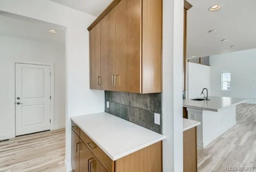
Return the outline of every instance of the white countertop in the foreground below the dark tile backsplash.
{"type": "Polygon", "coordinates": [[[113,161],[164,140],[158,134],[109,113],[71,117],[113,161]]]}

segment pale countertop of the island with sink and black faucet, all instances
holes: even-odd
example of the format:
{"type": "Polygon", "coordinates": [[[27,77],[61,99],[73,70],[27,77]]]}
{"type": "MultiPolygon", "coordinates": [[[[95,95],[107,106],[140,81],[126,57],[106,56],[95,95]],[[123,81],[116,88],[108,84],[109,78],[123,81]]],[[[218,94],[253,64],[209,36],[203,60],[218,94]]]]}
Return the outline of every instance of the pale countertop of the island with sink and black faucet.
{"type": "MultiPolygon", "coordinates": [[[[196,98],[193,98],[196,99],[196,98]]],[[[247,99],[209,96],[210,101],[183,100],[183,107],[218,112],[231,105],[238,105],[247,99]]]]}

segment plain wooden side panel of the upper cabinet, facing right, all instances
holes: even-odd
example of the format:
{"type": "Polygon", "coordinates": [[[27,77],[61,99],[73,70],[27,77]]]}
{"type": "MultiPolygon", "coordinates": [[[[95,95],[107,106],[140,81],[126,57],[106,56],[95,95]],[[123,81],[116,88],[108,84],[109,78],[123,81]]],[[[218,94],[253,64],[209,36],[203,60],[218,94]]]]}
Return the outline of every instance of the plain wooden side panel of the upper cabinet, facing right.
{"type": "Polygon", "coordinates": [[[162,92],[162,0],[142,0],[142,93],[162,92]]]}

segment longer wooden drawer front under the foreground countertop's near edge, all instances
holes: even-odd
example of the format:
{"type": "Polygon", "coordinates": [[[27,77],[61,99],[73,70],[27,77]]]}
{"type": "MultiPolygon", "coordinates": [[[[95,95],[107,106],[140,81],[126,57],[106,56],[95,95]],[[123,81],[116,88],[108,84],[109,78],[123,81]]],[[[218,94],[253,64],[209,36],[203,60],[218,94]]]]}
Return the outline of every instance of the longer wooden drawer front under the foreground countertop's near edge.
{"type": "Polygon", "coordinates": [[[107,154],[101,150],[95,144],[89,136],[87,136],[82,130],[80,132],[81,140],[86,144],[86,146],[92,151],[94,156],[100,161],[100,163],[106,168],[108,172],[114,172],[114,161],[112,161],[107,154]]]}

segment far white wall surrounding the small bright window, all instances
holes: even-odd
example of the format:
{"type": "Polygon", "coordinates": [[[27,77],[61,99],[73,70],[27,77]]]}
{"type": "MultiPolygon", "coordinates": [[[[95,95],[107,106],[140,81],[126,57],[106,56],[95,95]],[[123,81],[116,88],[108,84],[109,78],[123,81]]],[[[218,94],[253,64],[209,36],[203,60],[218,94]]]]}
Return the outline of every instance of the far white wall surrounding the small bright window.
{"type": "Polygon", "coordinates": [[[256,99],[256,49],[210,56],[211,94],[256,99]],[[221,73],[231,73],[230,91],[221,91],[221,73]]]}

